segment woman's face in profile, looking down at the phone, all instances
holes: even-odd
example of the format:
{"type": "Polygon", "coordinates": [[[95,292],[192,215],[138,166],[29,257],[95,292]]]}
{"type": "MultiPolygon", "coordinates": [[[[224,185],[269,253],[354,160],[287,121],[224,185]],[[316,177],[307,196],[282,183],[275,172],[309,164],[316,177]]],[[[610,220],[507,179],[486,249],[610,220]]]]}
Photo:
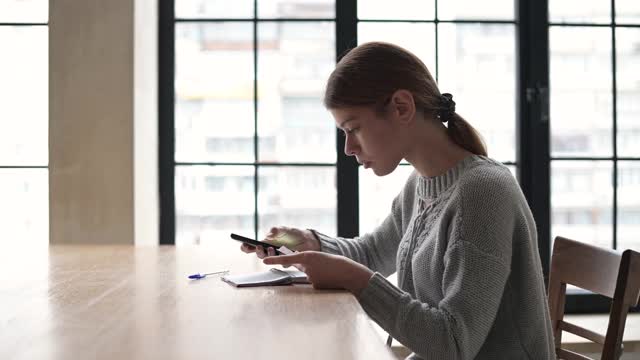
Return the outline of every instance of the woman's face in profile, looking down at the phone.
{"type": "Polygon", "coordinates": [[[402,160],[399,128],[392,115],[381,116],[372,107],[332,109],[336,126],[345,136],[344,153],[355,156],[378,176],[390,174],[402,160]]]}

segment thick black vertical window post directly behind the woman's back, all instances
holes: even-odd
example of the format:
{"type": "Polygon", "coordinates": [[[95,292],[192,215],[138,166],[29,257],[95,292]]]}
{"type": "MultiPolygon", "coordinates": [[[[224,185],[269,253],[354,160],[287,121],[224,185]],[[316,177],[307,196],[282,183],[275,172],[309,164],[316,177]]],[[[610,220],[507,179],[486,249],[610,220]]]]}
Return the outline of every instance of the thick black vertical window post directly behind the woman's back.
{"type": "Polygon", "coordinates": [[[519,0],[518,178],[536,220],[545,284],[551,257],[548,0],[519,0]]]}

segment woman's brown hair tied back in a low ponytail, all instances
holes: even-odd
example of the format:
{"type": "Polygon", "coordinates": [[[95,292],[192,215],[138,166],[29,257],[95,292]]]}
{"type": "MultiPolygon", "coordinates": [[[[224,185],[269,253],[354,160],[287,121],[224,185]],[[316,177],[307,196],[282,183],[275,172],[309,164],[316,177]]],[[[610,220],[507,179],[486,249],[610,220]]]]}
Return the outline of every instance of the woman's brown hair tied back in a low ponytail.
{"type": "MultiPolygon", "coordinates": [[[[438,85],[424,63],[411,52],[393,44],[369,42],[350,50],[329,76],[324,106],[376,106],[396,90],[411,92],[416,109],[436,117],[447,111],[438,85]]],[[[448,119],[449,137],[464,149],[487,155],[482,137],[458,113],[448,119]]]]}

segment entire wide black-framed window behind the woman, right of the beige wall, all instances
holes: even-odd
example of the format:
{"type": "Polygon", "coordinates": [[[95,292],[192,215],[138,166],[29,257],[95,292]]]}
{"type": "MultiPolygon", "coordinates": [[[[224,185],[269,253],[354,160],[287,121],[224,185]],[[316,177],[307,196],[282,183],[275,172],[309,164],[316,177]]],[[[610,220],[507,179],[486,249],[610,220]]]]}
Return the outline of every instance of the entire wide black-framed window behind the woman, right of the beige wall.
{"type": "MultiPolygon", "coordinates": [[[[373,230],[412,168],[347,158],[320,96],[341,54],[381,40],[418,55],[517,174],[545,275],[556,235],[640,250],[640,2],[220,3],[161,7],[163,243],[373,230]]],[[[581,296],[569,311],[597,308],[581,296]]]]}

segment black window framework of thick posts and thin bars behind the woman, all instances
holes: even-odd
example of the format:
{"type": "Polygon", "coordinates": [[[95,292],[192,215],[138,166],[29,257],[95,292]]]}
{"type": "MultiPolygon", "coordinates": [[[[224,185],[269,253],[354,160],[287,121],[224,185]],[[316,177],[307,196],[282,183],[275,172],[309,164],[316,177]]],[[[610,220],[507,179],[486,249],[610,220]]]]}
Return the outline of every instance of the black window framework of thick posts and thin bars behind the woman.
{"type": "MultiPolygon", "coordinates": [[[[175,13],[174,4],[179,0],[159,2],[159,189],[160,189],[160,244],[175,243],[175,166],[174,160],[174,76],[175,76],[175,13]]],[[[442,1],[442,0],[440,0],[442,1]]],[[[614,92],[614,203],[613,228],[614,239],[617,219],[617,160],[616,145],[616,59],[615,59],[615,0],[612,6],[612,24],[602,25],[613,28],[613,92],[614,92]]],[[[545,283],[548,283],[551,257],[551,179],[550,165],[550,125],[549,125],[549,0],[514,0],[515,19],[506,21],[516,26],[516,161],[517,177],[522,191],[529,203],[536,220],[538,246],[542,261],[545,283]]],[[[257,49],[255,33],[257,20],[257,0],[254,0],[254,49],[257,49]]],[[[483,23],[482,20],[441,21],[437,17],[438,0],[435,0],[436,18],[431,23],[483,23]]],[[[212,19],[196,19],[211,21],[212,19]]],[[[215,20],[215,19],[214,19],[215,20]]],[[[219,21],[229,19],[219,19],[219,21]]],[[[241,21],[247,21],[242,19],[241,21]]],[[[248,21],[252,21],[249,19],[248,21]]],[[[357,0],[336,0],[335,18],[332,19],[268,19],[266,21],[335,21],[336,26],[336,61],[349,49],[357,45],[358,18],[357,0]]],[[[376,20],[377,21],[377,20],[376,20]]],[[[384,21],[384,20],[382,20],[384,21]]],[[[404,21],[402,21],[404,22],[404,21]]],[[[412,21],[406,21],[412,22],[412,21]]],[[[500,21],[487,21],[500,23],[500,21]]],[[[620,26],[620,25],[617,25],[620,26]]],[[[625,25],[626,26],[626,25],[625,25]]],[[[436,27],[437,29],[437,27],[436,27]]],[[[436,30],[437,31],[437,30],[436,30]]],[[[437,36],[436,36],[437,37],[437,36]]],[[[437,40],[436,40],[437,41],[437,40]]],[[[437,52],[437,43],[436,43],[437,52]]],[[[254,52],[254,56],[255,52],[254,52]]],[[[254,59],[254,64],[256,60],[254,59]]],[[[436,68],[438,57],[436,56],[436,68]]],[[[254,71],[256,71],[254,69],[254,71]]],[[[254,84],[255,85],[255,84],[254,84]]],[[[254,91],[257,87],[254,87],[254,91]]],[[[257,113],[257,108],[254,108],[257,113]]],[[[344,148],[344,137],[336,130],[337,159],[334,164],[316,163],[283,163],[264,164],[270,166],[335,166],[337,174],[337,235],[354,237],[359,234],[359,199],[358,199],[358,164],[355,159],[347,157],[344,148]],[[355,221],[354,221],[355,219],[355,221]]],[[[257,148],[257,138],[254,139],[257,148]]],[[[257,159],[257,158],[256,158],[257,159]]],[[[554,158],[555,159],[555,158],[554,158]]],[[[585,159],[585,158],[580,158],[585,159]]],[[[640,158],[633,158],[640,160],[640,158]]],[[[257,160],[256,160],[257,161],[257,160]]],[[[214,163],[199,163],[214,165],[214,163]]],[[[232,164],[232,163],[215,163],[232,164]]],[[[511,163],[514,164],[514,163],[511,163]]],[[[246,165],[246,164],[244,164],[246,165]]],[[[257,171],[256,171],[257,173],[257,171]]],[[[257,175],[254,182],[254,193],[257,201],[257,175]]],[[[257,205],[256,205],[257,209],[257,205]]],[[[258,228],[258,214],[255,214],[255,228],[258,228]]],[[[615,240],[614,240],[615,247],[615,240]]],[[[567,298],[567,312],[595,313],[608,312],[610,302],[599,295],[571,293],[567,298]]]]}

